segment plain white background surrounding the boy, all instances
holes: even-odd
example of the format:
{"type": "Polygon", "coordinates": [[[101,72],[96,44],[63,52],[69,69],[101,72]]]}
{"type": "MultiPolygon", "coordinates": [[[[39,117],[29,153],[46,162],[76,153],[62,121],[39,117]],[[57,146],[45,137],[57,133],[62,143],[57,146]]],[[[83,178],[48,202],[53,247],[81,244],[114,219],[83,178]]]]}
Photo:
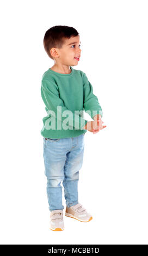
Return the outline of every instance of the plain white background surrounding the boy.
{"type": "Polygon", "coordinates": [[[147,244],[147,1],[3,1],[0,9],[1,244],[147,244]],[[54,64],[42,41],[55,25],[79,32],[73,68],[88,76],[107,125],[85,134],[79,173],[79,202],[93,219],[64,216],[61,232],[49,228],[40,135],[41,77],[54,64]]]}

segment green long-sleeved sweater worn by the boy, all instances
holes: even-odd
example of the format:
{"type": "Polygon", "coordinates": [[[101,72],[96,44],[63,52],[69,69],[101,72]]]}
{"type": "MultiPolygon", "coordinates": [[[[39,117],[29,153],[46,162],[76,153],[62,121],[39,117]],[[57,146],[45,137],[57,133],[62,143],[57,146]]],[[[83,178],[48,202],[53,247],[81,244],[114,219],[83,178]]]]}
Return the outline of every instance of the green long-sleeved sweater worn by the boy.
{"type": "Polygon", "coordinates": [[[45,138],[76,137],[87,132],[82,129],[88,122],[83,109],[91,118],[95,114],[102,117],[102,108],[87,76],[81,70],[70,68],[70,74],[48,69],[42,75],[41,97],[47,115],[42,119],[41,135],[45,138]]]}

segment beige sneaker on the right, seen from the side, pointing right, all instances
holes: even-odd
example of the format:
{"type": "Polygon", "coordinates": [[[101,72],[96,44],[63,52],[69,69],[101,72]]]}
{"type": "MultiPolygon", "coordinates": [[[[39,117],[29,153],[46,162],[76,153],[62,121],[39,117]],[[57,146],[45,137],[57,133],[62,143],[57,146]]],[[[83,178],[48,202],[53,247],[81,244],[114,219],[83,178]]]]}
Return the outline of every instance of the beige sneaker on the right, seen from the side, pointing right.
{"type": "Polygon", "coordinates": [[[82,204],[72,205],[70,208],[66,206],[65,216],[75,218],[78,221],[89,222],[92,220],[91,214],[87,212],[82,204]]]}

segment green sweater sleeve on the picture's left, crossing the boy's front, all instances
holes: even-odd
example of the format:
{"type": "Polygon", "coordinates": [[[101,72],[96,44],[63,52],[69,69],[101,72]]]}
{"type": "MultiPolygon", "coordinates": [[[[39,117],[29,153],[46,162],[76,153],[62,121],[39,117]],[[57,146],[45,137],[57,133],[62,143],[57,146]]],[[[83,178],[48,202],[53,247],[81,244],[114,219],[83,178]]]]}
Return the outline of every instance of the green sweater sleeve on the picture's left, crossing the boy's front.
{"type": "Polygon", "coordinates": [[[63,112],[67,111],[66,115],[68,115],[68,117],[66,118],[66,124],[69,124],[70,130],[83,130],[82,128],[85,126],[85,124],[87,124],[88,120],[85,120],[64,106],[63,100],[59,97],[57,84],[54,84],[52,81],[42,79],[41,97],[46,105],[46,108],[55,113],[55,118],[61,121],[61,125],[63,125],[66,113],[65,112],[63,114],[63,112]],[[58,107],[60,107],[60,111],[58,107]]]}

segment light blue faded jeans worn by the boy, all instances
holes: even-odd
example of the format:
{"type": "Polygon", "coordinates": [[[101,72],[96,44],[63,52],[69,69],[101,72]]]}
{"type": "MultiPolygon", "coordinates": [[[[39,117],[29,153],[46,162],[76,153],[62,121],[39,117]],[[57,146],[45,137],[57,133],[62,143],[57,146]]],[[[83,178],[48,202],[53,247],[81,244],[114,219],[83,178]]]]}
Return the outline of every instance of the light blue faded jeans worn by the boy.
{"type": "Polygon", "coordinates": [[[77,137],[44,138],[44,164],[49,210],[63,210],[62,187],[67,207],[78,204],[79,170],[83,163],[85,133],[77,137]]]}

